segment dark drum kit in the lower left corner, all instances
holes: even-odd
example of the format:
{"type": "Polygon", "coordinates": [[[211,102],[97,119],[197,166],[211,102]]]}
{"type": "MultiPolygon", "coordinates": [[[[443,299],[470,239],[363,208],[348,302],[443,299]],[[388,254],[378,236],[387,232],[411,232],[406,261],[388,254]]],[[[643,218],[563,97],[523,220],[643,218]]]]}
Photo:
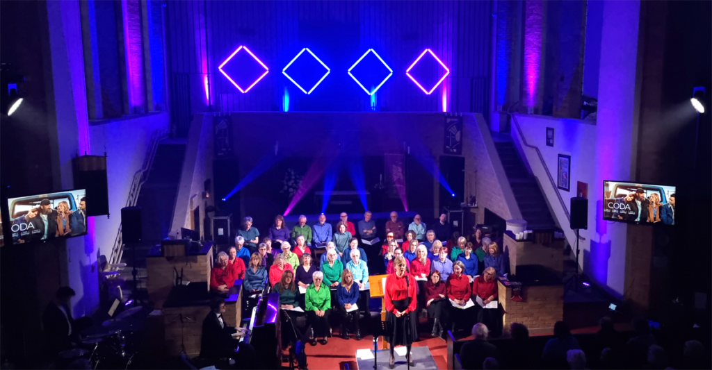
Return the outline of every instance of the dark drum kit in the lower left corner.
{"type": "Polygon", "coordinates": [[[60,369],[115,370],[131,369],[137,354],[137,313],[142,307],[121,312],[116,317],[82,332],[78,348],[59,353],[60,369]]]}

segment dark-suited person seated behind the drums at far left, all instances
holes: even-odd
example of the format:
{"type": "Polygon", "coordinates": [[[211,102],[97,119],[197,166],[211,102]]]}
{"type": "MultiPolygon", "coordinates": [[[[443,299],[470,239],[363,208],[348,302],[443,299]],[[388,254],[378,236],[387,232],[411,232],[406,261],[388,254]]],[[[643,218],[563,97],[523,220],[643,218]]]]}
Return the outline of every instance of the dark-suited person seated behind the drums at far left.
{"type": "Polygon", "coordinates": [[[42,326],[46,349],[50,356],[72,349],[79,343],[79,333],[91,326],[89,317],[74,320],[69,308],[70,300],[76,295],[72,288],[63,286],[42,313],[42,326]]]}

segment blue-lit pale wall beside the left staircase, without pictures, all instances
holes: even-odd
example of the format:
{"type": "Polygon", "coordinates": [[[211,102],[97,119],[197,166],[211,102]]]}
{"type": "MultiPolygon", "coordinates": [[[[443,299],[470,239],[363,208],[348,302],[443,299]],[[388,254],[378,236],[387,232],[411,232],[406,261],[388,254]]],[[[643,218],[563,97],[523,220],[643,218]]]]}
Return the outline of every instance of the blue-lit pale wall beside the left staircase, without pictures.
{"type": "Polygon", "coordinates": [[[152,137],[168,128],[167,112],[90,126],[92,153],[107,154],[110,217],[94,217],[95,245],[107,258],[111,256],[121,224],[121,209],[126,207],[134,175],[144,164],[152,137]]]}

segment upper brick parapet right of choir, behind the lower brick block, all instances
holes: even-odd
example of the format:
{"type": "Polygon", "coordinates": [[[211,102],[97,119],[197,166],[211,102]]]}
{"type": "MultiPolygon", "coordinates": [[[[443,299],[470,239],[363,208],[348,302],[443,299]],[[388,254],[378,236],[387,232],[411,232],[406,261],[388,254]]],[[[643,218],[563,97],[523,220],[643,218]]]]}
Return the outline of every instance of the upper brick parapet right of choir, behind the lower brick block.
{"type": "Polygon", "coordinates": [[[509,271],[516,275],[517,266],[541,265],[564,271],[565,239],[554,239],[551,243],[542,244],[535,241],[518,241],[510,233],[504,234],[504,253],[509,256],[509,271]]]}

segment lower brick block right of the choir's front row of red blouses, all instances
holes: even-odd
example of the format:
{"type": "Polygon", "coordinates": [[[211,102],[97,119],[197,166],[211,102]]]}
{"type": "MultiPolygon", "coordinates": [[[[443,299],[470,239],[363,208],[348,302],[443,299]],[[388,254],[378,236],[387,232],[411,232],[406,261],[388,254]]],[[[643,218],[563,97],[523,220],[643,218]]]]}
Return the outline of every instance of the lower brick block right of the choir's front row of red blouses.
{"type": "Polygon", "coordinates": [[[550,332],[555,322],[564,318],[564,285],[525,286],[522,288],[522,302],[512,300],[512,288],[501,282],[498,287],[505,328],[519,322],[533,334],[550,332]]]}

